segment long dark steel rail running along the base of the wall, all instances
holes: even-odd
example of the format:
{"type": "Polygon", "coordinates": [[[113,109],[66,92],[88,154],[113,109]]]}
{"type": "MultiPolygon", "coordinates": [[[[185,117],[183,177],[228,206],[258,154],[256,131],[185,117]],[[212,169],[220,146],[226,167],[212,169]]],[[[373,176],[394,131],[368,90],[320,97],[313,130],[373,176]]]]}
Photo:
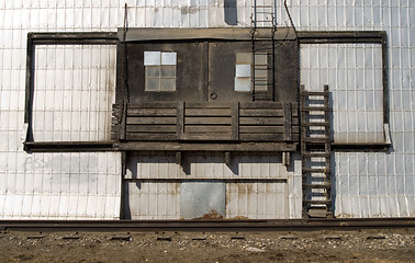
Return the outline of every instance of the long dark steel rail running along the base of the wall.
{"type": "Polygon", "coordinates": [[[282,220],[0,220],[0,231],[313,231],[414,228],[415,218],[282,220]]]}

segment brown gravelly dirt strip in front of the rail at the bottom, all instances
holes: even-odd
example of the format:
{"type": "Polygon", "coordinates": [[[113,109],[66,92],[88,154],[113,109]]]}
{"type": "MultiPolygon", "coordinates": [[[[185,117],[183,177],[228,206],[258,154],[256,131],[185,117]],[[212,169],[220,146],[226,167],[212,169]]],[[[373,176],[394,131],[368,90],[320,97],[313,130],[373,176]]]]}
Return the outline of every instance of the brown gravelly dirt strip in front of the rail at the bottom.
{"type": "Polygon", "coordinates": [[[3,232],[0,262],[415,262],[415,229],[3,232]]]}

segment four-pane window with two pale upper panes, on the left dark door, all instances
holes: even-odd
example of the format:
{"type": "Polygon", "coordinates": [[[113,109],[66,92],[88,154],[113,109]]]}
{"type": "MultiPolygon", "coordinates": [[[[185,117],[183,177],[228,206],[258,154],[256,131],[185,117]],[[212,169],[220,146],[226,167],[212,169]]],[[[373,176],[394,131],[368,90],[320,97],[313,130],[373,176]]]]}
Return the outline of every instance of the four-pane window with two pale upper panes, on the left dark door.
{"type": "Polygon", "coordinates": [[[176,91],[176,53],[145,52],[145,91],[176,91]]]}

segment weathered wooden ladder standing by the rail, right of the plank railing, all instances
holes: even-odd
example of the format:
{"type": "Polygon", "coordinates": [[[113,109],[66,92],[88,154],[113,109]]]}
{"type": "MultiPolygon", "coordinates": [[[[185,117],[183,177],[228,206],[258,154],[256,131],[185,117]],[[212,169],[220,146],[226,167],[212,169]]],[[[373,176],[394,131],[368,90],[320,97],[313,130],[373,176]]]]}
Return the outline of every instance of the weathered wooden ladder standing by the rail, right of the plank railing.
{"type": "Polygon", "coordinates": [[[328,85],[323,92],[301,85],[303,217],[333,217],[328,85]]]}

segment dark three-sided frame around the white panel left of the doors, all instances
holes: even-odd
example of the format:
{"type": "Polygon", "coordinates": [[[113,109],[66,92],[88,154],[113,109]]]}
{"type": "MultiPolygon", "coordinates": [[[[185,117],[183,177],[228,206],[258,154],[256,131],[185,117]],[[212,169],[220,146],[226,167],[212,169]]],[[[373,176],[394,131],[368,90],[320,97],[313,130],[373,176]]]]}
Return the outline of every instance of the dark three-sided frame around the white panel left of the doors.
{"type": "Polygon", "coordinates": [[[36,45],[116,45],[119,38],[114,32],[99,33],[29,33],[26,54],[25,108],[24,123],[27,125],[24,150],[26,151],[108,151],[113,150],[112,142],[102,141],[34,141],[33,95],[36,45]]]}

